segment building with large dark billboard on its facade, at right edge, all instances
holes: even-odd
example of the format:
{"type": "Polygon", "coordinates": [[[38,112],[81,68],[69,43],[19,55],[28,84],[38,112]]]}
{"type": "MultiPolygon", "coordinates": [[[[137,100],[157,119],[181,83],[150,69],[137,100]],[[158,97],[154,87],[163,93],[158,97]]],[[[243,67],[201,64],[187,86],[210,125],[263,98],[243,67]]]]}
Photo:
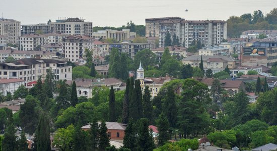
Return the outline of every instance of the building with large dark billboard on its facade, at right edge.
{"type": "Polygon", "coordinates": [[[256,41],[250,47],[243,47],[241,65],[270,67],[277,61],[276,41],[256,41]]]}

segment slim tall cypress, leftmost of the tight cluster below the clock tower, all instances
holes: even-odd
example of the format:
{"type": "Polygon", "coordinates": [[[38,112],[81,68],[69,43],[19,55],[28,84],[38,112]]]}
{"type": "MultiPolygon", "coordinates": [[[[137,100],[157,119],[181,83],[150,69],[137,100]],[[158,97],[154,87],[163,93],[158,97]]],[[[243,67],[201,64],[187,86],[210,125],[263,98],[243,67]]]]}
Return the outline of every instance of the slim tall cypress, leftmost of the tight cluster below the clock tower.
{"type": "Polygon", "coordinates": [[[127,124],[129,118],[129,89],[130,89],[130,78],[126,81],[126,89],[123,100],[123,109],[122,109],[122,123],[127,124]]]}

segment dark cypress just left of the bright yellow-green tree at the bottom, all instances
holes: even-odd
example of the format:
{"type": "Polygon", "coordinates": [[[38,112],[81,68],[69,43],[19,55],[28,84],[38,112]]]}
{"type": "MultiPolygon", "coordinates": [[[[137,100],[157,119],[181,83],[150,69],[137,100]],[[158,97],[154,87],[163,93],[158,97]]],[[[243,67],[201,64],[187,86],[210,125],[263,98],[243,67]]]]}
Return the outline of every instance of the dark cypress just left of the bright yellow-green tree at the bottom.
{"type": "Polygon", "coordinates": [[[37,150],[51,150],[50,146],[50,125],[46,113],[42,113],[37,126],[37,150]]]}

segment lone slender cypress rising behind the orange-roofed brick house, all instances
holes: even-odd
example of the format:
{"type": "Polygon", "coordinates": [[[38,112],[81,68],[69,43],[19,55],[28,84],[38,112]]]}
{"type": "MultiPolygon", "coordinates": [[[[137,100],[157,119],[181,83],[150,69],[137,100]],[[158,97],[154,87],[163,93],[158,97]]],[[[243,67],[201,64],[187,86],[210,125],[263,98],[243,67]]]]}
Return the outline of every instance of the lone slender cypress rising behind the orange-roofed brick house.
{"type": "Polygon", "coordinates": [[[111,86],[110,93],[109,93],[109,120],[110,120],[110,122],[116,121],[115,96],[114,96],[114,89],[112,86],[111,86]]]}

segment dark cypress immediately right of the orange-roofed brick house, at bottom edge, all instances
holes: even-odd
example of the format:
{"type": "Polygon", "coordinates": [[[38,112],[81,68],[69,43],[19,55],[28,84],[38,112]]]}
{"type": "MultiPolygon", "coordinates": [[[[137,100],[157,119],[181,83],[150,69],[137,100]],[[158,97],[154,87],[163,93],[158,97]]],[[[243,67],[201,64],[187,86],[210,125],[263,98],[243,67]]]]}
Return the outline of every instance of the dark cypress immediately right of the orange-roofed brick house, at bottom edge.
{"type": "Polygon", "coordinates": [[[123,145],[125,148],[129,148],[131,150],[134,150],[135,146],[135,125],[133,123],[133,119],[130,118],[128,125],[125,129],[125,135],[124,135],[124,139],[123,139],[123,145]]]}

